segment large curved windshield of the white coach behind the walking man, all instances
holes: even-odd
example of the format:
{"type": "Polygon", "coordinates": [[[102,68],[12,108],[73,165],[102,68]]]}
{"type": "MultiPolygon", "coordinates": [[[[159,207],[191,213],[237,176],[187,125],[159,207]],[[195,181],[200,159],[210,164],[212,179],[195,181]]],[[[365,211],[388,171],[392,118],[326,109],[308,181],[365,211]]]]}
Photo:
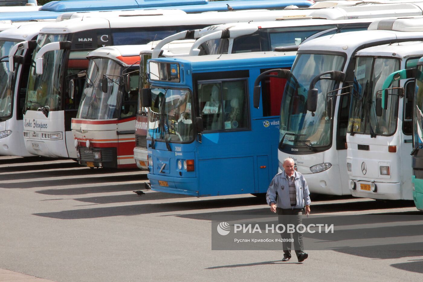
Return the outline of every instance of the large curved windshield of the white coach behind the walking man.
{"type": "Polygon", "coordinates": [[[292,67],[282,97],[280,110],[280,149],[283,144],[316,149],[327,147],[332,141],[330,114],[327,113],[327,92],[336,82],[319,80],[317,109],[314,116],[307,111],[308,88],[311,80],[322,72],[341,71],[344,65],[341,55],[299,54],[292,67]],[[296,79],[297,78],[297,79],[296,79]]]}

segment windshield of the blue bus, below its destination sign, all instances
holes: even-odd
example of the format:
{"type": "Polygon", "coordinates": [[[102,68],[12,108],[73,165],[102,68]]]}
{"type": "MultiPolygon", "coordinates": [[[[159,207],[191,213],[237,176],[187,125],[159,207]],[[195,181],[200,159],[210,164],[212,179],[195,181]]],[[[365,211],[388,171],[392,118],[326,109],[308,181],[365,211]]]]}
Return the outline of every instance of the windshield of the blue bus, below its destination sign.
{"type": "Polygon", "coordinates": [[[192,95],[187,89],[152,88],[148,137],[170,142],[192,141],[192,95]]]}

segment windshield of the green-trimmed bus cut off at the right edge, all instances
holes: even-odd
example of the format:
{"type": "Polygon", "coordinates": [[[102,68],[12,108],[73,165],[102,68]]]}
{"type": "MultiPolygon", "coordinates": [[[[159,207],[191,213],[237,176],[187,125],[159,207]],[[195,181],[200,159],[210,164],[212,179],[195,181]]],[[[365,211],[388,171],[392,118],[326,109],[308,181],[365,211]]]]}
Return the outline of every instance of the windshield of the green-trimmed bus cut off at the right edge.
{"type": "Polygon", "coordinates": [[[415,86],[414,148],[423,146],[423,65],[418,66],[415,86]]]}

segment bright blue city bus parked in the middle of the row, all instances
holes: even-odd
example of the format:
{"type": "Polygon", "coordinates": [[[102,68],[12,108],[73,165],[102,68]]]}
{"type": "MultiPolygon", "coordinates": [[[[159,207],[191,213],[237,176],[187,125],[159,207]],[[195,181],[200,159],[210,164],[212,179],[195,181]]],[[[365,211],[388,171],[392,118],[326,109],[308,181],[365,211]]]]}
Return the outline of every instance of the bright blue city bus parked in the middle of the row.
{"type": "Polygon", "coordinates": [[[277,173],[285,80],[257,77],[292,66],[295,52],[257,52],[148,60],[147,127],[151,189],[191,196],[265,193],[277,173]],[[154,138],[153,138],[154,137],[154,138]]]}

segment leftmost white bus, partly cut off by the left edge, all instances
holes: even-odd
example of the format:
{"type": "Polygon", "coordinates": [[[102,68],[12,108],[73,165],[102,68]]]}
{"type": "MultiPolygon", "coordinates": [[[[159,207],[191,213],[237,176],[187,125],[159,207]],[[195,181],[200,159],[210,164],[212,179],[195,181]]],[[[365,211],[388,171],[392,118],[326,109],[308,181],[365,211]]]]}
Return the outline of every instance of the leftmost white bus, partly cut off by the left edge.
{"type": "Polygon", "coordinates": [[[31,155],[22,138],[22,110],[35,47],[34,39],[47,24],[22,23],[0,32],[0,155],[31,155]],[[29,49],[18,50],[21,44],[28,44],[25,40],[32,42],[29,49]]]}

